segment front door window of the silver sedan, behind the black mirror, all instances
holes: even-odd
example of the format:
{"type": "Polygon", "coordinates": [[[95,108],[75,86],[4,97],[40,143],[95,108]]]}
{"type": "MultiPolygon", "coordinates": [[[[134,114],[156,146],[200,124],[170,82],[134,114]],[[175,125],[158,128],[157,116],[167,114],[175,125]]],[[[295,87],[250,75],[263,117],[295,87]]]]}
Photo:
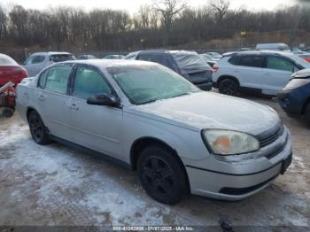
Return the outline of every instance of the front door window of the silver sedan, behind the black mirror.
{"type": "Polygon", "coordinates": [[[74,78],[74,97],[88,99],[97,94],[111,94],[111,89],[105,78],[97,70],[80,66],[74,78]]]}

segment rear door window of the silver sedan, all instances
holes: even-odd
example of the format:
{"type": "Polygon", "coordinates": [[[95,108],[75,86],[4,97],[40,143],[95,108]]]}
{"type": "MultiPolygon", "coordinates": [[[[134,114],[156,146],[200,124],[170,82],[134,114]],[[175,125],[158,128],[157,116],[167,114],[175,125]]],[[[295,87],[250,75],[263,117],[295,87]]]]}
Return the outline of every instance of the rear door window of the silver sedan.
{"type": "MultiPolygon", "coordinates": [[[[72,66],[51,67],[46,74],[45,89],[59,94],[66,94],[67,84],[71,71],[72,66]]],[[[44,79],[44,75],[41,78],[44,79]]]]}

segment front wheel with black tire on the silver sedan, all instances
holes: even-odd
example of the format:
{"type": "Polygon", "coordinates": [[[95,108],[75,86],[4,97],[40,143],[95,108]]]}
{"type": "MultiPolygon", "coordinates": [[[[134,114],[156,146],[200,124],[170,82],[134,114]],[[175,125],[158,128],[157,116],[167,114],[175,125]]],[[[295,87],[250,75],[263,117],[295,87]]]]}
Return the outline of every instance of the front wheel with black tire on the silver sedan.
{"type": "Polygon", "coordinates": [[[144,149],[137,169],[143,189],[160,203],[174,205],[188,193],[182,164],[164,147],[153,145],[144,149]]]}

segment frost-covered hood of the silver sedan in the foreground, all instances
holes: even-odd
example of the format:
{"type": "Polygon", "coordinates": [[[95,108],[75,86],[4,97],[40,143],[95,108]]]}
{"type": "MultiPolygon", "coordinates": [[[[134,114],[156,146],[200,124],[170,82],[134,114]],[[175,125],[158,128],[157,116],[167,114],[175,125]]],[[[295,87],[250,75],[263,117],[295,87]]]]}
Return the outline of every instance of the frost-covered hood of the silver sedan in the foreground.
{"type": "Polygon", "coordinates": [[[267,105],[217,93],[199,92],[135,106],[141,114],[182,127],[219,128],[260,135],[279,122],[267,105]]]}

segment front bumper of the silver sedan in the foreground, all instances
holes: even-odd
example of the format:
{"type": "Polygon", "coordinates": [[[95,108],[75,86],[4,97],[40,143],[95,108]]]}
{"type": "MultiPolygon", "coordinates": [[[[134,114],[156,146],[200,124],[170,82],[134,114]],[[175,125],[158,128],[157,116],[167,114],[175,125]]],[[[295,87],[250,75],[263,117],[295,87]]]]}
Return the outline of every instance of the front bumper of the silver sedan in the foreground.
{"type": "MultiPolygon", "coordinates": [[[[187,165],[191,193],[202,197],[234,201],[250,197],[265,189],[291,165],[291,135],[287,129],[283,136],[288,136],[283,150],[271,158],[258,156],[239,162],[218,160],[213,167],[207,168],[199,167],[198,164],[187,165]],[[216,166],[219,168],[215,168],[216,166]]],[[[279,138],[281,139],[283,138],[279,138]]]]}

